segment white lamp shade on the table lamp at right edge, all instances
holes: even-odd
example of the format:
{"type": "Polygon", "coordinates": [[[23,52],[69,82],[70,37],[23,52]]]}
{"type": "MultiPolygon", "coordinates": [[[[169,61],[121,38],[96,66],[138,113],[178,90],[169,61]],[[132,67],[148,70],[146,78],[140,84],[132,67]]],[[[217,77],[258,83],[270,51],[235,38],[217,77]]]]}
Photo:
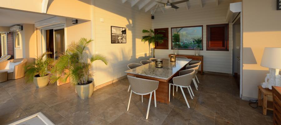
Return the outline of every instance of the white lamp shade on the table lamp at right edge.
{"type": "Polygon", "coordinates": [[[281,48],[265,47],[261,66],[281,69],[281,48]]]}

